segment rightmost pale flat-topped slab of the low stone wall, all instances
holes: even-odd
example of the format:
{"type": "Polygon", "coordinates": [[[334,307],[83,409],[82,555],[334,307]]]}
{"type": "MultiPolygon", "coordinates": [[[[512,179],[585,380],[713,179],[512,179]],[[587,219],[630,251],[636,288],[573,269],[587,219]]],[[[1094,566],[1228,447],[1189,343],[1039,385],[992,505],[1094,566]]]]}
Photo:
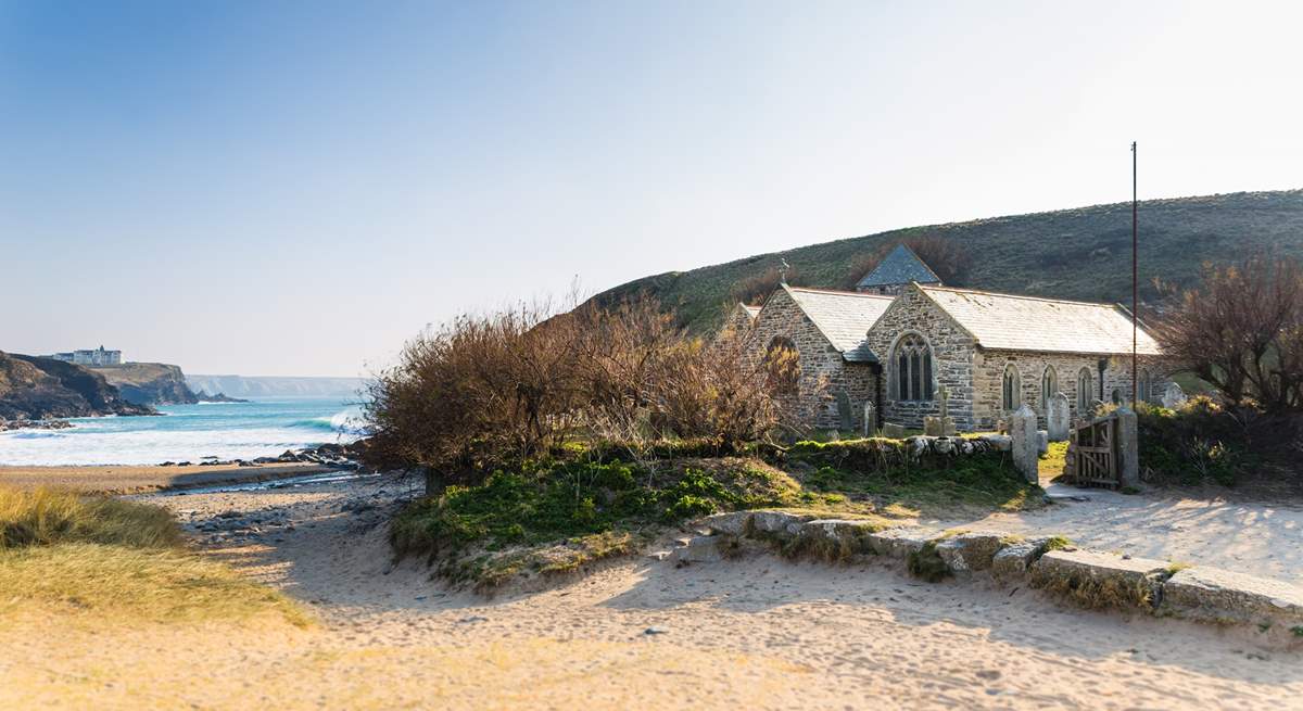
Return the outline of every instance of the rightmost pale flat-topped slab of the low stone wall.
{"type": "Polygon", "coordinates": [[[1183,617],[1303,624],[1303,587],[1282,581],[1186,568],[1162,583],[1162,609],[1183,617]]]}

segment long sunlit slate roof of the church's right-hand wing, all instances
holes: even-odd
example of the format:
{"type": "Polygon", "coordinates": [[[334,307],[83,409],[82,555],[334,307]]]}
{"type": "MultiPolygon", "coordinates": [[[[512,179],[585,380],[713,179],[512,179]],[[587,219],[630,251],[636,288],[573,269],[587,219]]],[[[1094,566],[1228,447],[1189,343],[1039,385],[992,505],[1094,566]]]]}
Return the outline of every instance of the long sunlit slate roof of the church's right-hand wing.
{"type": "MultiPolygon", "coordinates": [[[[977,339],[982,348],[1049,353],[1131,353],[1131,313],[1115,303],[1057,301],[972,289],[919,289],[977,339]]],[[[1136,353],[1161,356],[1140,324],[1136,353]]]]}

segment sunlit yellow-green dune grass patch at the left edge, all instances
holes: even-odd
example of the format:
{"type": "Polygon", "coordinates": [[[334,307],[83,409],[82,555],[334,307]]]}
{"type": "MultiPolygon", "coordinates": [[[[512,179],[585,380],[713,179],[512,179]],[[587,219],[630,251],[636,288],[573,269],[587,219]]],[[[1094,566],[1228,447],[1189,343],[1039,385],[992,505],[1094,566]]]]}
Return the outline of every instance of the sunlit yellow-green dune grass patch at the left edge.
{"type": "Polygon", "coordinates": [[[165,509],[51,490],[0,488],[0,619],[309,621],[279,591],[181,548],[165,509]]]}

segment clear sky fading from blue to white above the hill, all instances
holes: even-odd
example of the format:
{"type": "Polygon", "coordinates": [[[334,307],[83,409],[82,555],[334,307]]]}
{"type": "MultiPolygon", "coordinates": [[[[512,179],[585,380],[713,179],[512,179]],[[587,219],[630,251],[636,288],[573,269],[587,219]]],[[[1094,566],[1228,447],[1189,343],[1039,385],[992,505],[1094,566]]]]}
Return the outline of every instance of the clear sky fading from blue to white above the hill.
{"type": "MultiPolygon", "coordinates": [[[[364,375],[459,313],[1303,188],[1303,4],[0,0],[0,350],[364,375]]],[[[797,264],[799,267],[799,264],[797,264]]]]}

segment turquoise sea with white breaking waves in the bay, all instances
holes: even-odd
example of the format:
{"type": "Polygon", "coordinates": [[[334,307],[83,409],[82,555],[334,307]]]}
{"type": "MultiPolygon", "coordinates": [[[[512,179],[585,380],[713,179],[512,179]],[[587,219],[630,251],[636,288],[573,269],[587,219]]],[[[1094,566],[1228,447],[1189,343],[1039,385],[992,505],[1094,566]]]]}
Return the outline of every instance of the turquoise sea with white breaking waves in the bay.
{"type": "Polygon", "coordinates": [[[199,464],[250,460],[362,436],[361,405],[341,398],[266,397],[162,405],[156,417],[74,418],[66,430],[0,432],[0,465],[199,464]]]}

